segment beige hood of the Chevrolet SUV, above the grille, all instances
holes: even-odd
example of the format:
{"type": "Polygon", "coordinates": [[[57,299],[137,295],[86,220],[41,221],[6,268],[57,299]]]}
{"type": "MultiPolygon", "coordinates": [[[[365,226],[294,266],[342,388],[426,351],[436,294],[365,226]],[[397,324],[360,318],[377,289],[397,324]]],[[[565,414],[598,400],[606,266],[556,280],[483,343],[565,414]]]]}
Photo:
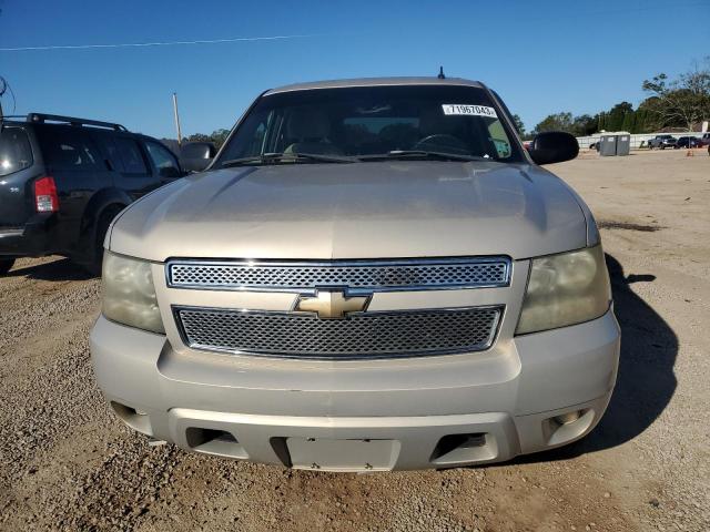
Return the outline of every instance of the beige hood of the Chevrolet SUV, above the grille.
{"type": "Polygon", "coordinates": [[[134,203],[110,248],[199,258],[394,258],[580,248],[587,224],[567,185],[537,166],[387,161],[194,174],[134,203]]]}

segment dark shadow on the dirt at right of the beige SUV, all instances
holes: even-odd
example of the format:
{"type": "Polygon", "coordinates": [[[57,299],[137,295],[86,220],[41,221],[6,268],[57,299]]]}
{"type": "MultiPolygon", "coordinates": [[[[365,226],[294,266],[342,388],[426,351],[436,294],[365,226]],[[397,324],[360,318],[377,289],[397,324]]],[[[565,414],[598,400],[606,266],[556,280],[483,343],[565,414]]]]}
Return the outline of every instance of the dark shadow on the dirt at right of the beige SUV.
{"type": "Polygon", "coordinates": [[[514,463],[567,460],[626,443],[643,432],[673,397],[678,337],[663,318],[629,288],[633,283],[651,283],[656,276],[626,275],[615,257],[607,254],[606,259],[615,313],[621,326],[619,374],[609,407],[586,438],[567,447],[519,457],[514,463]]]}

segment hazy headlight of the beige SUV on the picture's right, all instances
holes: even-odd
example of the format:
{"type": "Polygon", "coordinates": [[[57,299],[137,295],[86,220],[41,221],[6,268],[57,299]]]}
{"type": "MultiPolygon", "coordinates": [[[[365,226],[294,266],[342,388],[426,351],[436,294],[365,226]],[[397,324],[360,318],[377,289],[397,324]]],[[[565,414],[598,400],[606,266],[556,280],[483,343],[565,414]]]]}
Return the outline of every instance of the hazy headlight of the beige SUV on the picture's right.
{"type": "Polygon", "coordinates": [[[611,303],[601,246],[532,259],[517,335],[580,324],[611,303]]]}

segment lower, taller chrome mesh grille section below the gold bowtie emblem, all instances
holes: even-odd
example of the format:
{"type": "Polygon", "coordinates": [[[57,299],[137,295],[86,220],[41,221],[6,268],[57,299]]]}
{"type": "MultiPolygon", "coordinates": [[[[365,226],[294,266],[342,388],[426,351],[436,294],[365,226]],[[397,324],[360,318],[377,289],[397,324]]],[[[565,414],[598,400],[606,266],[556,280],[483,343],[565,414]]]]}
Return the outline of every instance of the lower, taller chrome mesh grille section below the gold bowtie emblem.
{"type": "Polygon", "coordinates": [[[190,347],[288,358],[395,358],[487,349],[503,307],[352,314],[175,308],[190,347]]]}

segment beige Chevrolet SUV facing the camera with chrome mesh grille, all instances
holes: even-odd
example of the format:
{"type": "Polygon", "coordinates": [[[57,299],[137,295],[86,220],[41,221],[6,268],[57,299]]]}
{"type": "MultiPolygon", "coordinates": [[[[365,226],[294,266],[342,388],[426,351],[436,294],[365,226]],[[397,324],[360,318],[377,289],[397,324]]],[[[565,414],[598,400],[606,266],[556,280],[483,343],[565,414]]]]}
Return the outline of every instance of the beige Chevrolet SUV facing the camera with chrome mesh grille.
{"type": "Polygon", "coordinates": [[[106,238],[91,332],[129,427],[310,470],[469,466],[587,434],[619,327],[595,219],[460,79],[265,92],[106,238]]]}

